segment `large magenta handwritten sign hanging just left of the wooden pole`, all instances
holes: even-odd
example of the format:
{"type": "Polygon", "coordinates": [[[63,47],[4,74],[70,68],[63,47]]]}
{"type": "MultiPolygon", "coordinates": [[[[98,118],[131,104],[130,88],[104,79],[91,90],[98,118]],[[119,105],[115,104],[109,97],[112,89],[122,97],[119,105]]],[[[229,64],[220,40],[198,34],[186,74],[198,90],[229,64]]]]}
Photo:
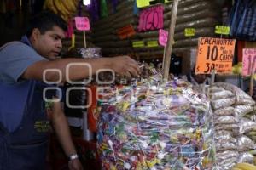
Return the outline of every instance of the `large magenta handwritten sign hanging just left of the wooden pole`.
{"type": "Polygon", "coordinates": [[[164,27],[164,7],[144,9],[140,14],[138,31],[153,31],[164,27]]]}

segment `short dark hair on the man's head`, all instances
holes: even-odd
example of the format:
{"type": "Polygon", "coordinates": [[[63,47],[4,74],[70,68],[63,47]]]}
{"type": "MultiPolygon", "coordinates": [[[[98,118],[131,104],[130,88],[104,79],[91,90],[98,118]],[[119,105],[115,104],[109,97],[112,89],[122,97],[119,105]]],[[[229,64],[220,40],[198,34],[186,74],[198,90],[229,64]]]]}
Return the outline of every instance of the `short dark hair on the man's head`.
{"type": "Polygon", "coordinates": [[[59,26],[63,31],[67,31],[67,23],[61,16],[48,10],[42,11],[30,20],[26,36],[30,37],[35,28],[44,34],[46,31],[52,30],[54,26],[59,26]]]}

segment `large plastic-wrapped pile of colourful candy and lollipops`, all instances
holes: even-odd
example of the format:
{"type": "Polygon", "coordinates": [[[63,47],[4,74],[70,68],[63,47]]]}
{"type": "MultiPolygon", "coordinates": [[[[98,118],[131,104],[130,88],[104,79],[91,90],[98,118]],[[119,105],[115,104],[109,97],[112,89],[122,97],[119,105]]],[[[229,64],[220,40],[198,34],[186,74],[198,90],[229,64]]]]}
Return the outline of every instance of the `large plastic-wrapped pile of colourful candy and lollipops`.
{"type": "Polygon", "coordinates": [[[212,110],[189,82],[155,74],[102,88],[97,149],[102,169],[213,169],[212,110]]]}

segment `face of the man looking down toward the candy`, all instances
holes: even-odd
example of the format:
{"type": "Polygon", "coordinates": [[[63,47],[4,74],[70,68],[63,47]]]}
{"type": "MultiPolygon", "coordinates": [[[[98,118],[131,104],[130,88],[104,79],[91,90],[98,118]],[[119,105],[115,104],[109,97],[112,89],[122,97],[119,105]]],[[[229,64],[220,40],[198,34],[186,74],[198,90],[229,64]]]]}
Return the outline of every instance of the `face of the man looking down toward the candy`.
{"type": "Polygon", "coordinates": [[[65,37],[65,32],[58,26],[53,26],[50,31],[45,31],[44,34],[32,34],[32,45],[38,52],[47,59],[56,59],[62,48],[61,40],[65,37]]]}

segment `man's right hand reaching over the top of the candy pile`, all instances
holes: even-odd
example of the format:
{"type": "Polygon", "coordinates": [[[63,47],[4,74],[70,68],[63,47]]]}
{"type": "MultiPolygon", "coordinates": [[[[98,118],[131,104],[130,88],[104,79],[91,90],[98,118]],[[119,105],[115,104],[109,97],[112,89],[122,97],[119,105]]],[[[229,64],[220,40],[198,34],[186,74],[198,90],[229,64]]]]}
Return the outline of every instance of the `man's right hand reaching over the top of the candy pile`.
{"type": "Polygon", "coordinates": [[[128,56],[111,58],[110,68],[116,73],[126,77],[139,77],[140,70],[137,61],[128,56]]]}

